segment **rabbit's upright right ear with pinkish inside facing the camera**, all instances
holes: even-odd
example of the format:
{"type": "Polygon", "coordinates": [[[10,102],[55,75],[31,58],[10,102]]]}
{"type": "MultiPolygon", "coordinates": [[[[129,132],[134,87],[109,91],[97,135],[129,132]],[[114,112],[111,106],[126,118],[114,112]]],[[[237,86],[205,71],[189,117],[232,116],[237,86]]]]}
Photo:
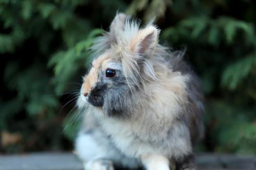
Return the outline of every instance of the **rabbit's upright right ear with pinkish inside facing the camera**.
{"type": "Polygon", "coordinates": [[[138,32],[138,36],[132,42],[132,51],[141,56],[150,56],[155,52],[158,42],[158,30],[154,26],[148,26],[138,32]]]}

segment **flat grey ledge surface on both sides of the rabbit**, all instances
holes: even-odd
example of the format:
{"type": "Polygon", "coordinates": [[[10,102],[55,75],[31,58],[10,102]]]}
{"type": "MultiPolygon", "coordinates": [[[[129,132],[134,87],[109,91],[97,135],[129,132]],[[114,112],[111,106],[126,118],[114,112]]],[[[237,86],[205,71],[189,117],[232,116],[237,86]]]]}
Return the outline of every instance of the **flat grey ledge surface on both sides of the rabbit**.
{"type": "MultiPolygon", "coordinates": [[[[256,156],[196,155],[198,170],[256,169],[256,156]]],[[[82,170],[79,159],[71,153],[30,153],[0,156],[0,170],[82,170]]]]}

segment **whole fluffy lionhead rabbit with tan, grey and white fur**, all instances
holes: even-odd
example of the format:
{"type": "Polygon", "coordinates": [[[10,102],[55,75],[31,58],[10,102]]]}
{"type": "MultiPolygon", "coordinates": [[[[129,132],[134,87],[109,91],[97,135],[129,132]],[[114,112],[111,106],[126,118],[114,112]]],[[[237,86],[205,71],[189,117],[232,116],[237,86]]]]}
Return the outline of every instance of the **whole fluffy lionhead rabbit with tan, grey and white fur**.
{"type": "Polygon", "coordinates": [[[119,13],[93,47],[98,56],[77,102],[84,123],[75,146],[85,169],[195,169],[204,112],[198,79],[158,35],[152,23],[141,28],[119,13]]]}

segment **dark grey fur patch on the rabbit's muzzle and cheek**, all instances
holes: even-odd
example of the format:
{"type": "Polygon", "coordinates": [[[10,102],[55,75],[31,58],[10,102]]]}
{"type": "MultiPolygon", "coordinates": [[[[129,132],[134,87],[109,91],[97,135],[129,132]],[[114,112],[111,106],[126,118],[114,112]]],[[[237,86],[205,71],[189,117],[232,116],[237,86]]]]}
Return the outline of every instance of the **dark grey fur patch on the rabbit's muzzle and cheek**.
{"type": "Polygon", "coordinates": [[[96,86],[89,93],[88,102],[96,107],[103,107],[107,116],[129,117],[134,107],[131,89],[136,90],[135,84],[127,84],[121,70],[114,78],[106,78],[101,72],[96,86]],[[129,87],[130,86],[130,87],[129,87]]]}

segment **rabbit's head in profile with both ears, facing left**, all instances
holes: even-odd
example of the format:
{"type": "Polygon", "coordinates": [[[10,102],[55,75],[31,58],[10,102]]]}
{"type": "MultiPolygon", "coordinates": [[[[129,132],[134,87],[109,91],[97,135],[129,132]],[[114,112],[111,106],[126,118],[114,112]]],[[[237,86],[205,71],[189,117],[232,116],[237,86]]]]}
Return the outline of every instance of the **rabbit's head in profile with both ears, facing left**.
{"type": "Polygon", "coordinates": [[[145,81],[157,79],[153,58],[158,45],[158,29],[117,14],[110,29],[98,39],[93,50],[98,56],[84,76],[79,107],[99,107],[106,115],[127,116],[147,98],[145,81]]]}

